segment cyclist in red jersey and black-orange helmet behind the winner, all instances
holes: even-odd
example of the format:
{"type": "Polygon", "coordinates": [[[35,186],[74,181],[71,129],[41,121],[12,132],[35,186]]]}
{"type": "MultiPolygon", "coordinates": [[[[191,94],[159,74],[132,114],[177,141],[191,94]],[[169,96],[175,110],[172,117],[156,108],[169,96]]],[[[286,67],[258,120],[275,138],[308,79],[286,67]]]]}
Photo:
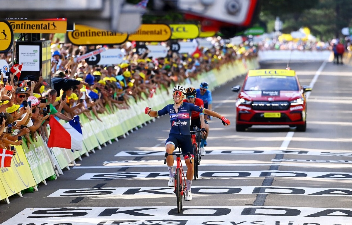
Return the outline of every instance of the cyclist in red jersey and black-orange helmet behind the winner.
{"type": "MultiPolygon", "coordinates": [[[[196,106],[203,107],[204,103],[203,100],[200,98],[197,98],[196,96],[197,91],[193,87],[189,87],[186,89],[186,99],[183,100],[183,102],[188,102],[191,104],[194,104],[196,106]]],[[[192,111],[191,115],[191,129],[193,127],[198,127],[202,129],[202,138],[201,138],[201,143],[199,146],[199,151],[200,155],[204,156],[205,155],[205,149],[204,149],[204,144],[205,140],[208,137],[209,134],[209,124],[208,122],[204,119],[204,113],[199,113],[197,111],[192,111]]]]}

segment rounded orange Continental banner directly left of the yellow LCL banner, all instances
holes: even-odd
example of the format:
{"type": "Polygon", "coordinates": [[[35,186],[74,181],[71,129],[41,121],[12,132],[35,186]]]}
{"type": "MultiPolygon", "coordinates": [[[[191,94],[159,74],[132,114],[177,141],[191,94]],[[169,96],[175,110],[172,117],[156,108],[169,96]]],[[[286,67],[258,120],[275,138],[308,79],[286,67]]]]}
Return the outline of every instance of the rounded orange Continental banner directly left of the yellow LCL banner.
{"type": "Polygon", "coordinates": [[[161,42],[171,37],[171,28],[166,24],[142,24],[139,29],[128,36],[128,41],[161,42]]]}

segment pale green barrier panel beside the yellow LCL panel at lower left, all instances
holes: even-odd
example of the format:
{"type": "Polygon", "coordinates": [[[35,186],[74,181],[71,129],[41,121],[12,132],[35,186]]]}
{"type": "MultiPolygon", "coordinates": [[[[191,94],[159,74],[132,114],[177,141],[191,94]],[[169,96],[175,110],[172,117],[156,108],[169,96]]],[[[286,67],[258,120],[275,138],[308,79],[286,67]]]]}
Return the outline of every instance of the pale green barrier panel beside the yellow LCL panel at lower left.
{"type": "Polygon", "coordinates": [[[33,141],[30,147],[27,148],[26,140],[23,140],[23,150],[31,168],[34,180],[36,183],[44,181],[46,178],[55,174],[52,167],[48,151],[44,145],[42,136],[38,135],[38,141],[33,141]]]}

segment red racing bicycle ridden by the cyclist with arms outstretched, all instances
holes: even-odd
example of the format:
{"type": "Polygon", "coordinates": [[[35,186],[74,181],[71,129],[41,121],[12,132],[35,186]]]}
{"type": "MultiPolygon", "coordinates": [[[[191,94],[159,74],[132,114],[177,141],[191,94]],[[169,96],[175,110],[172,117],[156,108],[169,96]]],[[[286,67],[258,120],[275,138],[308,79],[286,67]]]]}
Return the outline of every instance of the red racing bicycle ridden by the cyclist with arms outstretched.
{"type": "MultiPolygon", "coordinates": [[[[177,199],[177,212],[181,213],[182,210],[182,195],[184,197],[184,201],[186,201],[186,190],[187,190],[187,183],[186,177],[184,176],[182,162],[181,162],[181,155],[186,155],[181,153],[181,148],[178,147],[178,153],[168,154],[165,153],[164,164],[166,164],[166,157],[168,156],[176,156],[176,174],[175,174],[175,189],[174,193],[176,194],[177,199]]],[[[190,163],[192,164],[191,154],[187,153],[190,163]]]]}

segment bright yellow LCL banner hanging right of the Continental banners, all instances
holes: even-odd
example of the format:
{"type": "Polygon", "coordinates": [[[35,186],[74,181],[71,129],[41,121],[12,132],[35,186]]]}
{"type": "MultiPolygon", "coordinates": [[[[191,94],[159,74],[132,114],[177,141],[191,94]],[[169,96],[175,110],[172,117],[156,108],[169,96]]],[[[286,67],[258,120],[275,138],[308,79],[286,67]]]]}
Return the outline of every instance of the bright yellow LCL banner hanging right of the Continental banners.
{"type": "Polygon", "coordinates": [[[195,24],[170,24],[171,39],[194,39],[199,36],[199,28],[195,24]]]}

